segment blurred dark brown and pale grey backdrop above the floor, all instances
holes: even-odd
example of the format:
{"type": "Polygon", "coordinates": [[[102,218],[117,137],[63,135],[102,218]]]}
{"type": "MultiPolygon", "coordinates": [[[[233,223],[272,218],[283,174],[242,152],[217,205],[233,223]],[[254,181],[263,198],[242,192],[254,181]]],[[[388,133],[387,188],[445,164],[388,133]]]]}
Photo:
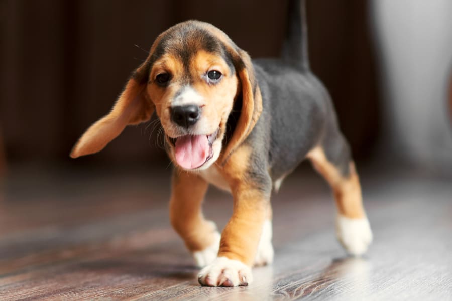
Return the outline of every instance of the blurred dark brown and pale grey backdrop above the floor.
{"type": "MultiPolygon", "coordinates": [[[[203,20],[254,58],[277,56],[286,11],[272,0],[0,1],[0,156],[11,168],[168,165],[149,123],[94,156],[68,154],[160,32],[203,20]]],[[[308,1],[311,66],[357,161],[450,172],[451,11],[448,0],[308,1]]]]}

